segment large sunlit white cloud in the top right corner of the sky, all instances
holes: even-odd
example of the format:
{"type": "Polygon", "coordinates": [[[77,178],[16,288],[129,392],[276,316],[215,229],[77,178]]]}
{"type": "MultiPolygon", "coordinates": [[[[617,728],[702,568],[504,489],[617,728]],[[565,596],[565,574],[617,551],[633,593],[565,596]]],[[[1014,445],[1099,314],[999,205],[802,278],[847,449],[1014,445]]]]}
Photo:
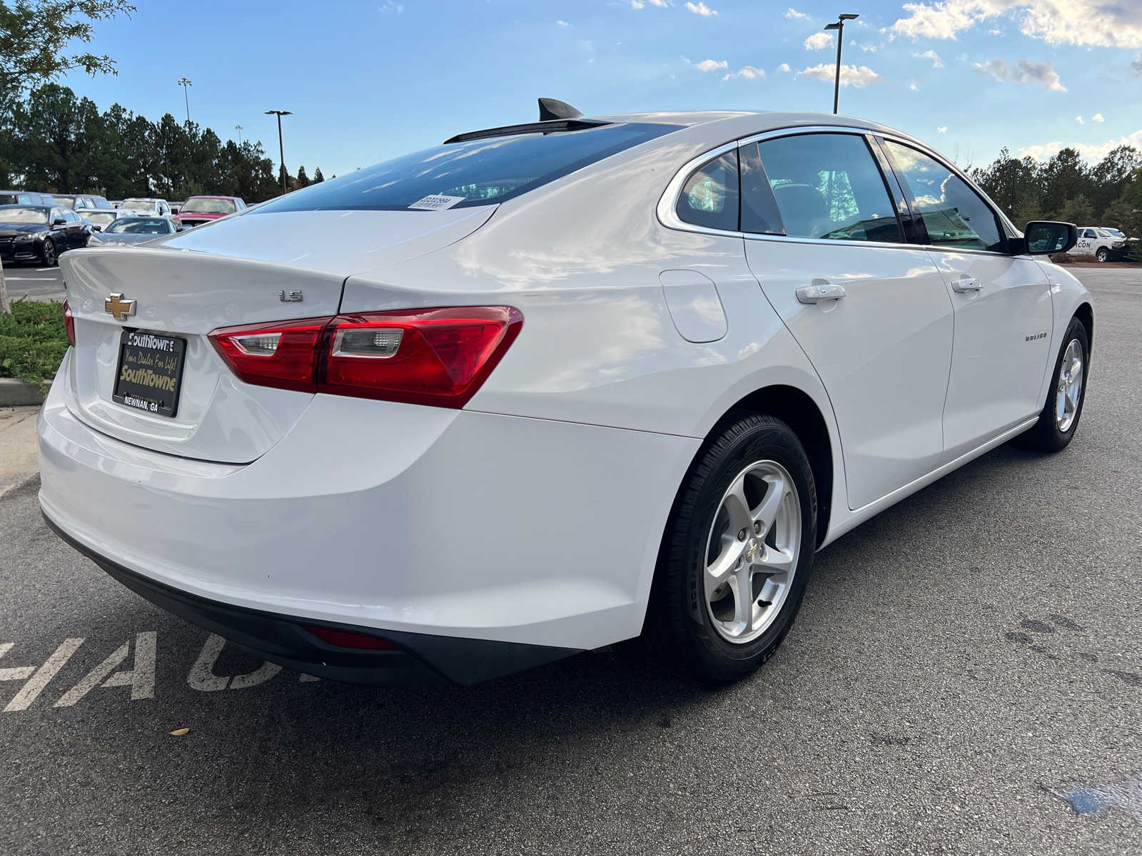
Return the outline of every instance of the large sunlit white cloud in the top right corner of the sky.
{"type": "Polygon", "coordinates": [[[942,0],[904,3],[910,17],[887,31],[912,39],[955,39],[978,23],[1006,16],[1020,32],[1051,45],[1142,47],[1142,6],[1103,0],[942,0]]]}

